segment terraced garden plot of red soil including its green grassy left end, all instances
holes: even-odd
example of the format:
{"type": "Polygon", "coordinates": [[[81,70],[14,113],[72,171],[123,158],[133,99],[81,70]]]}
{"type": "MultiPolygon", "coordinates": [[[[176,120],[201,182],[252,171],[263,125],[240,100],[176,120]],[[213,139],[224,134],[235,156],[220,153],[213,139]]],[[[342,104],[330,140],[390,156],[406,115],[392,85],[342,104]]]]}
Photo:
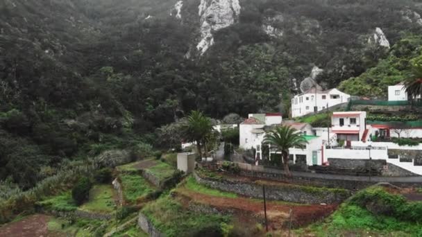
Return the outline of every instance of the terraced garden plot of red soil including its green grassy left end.
{"type": "MultiPolygon", "coordinates": [[[[188,177],[186,182],[176,190],[174,195],[183,200],[186,206],[194,207],[199,204],[212,207],[217,213],[233,213],[235,216],[244,218],[255,218],[256,222],[264,221],[264,203],[263,200],[255,198],[246,198],[235,193],[218,191],[198,184],[194,177],[188,177]]],[[[271,229],[282,229],[287,225],[292,210],[292,225],[294,227],[302,226],[321,220],[332,211],[337,205],[310,205],[298,204],[292,202],[267,201],[267,217],[269,218],[271,229]]],[[[195,208],[194,208],[195,209],[195,208]]]]}

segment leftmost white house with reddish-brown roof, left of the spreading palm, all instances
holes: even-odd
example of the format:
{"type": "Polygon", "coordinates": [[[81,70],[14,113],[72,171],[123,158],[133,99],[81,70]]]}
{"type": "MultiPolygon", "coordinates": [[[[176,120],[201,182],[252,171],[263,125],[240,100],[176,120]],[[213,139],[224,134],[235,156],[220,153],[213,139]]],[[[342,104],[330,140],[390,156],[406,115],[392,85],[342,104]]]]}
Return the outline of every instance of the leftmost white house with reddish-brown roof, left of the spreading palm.
{"type": "Polygon", "coordinates": [[[239,125],[239,147],[256,149],[264,140],[264,127],[280,125],[281,122],[281,114],[249,114],[248,119],[239,125]]]}

